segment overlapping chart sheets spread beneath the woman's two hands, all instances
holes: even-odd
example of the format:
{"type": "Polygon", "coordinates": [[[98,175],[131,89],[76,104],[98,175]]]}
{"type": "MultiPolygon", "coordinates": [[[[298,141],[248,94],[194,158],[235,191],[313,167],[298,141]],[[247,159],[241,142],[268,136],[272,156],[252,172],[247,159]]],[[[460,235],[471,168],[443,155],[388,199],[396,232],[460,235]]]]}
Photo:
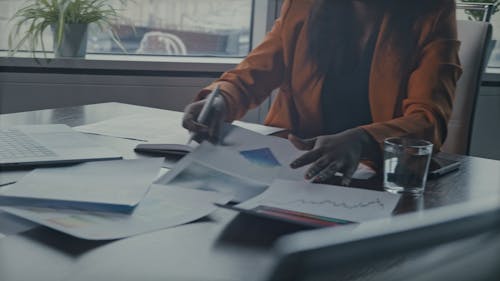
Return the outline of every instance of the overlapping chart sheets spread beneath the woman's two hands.
{"type": "MultiPolygon", "coordinates": [[[[289,166],[304,152],[288,140],[238,127],[226,130],[222,145],[202,143],[156,183],[229,194],[244,202],[239,210],[314,226],[388,217],[399,201],[387,192],[307,182],[308,167],[289,166]]],[[[354,177],[374,174],[360,165],[354,177]]]]}

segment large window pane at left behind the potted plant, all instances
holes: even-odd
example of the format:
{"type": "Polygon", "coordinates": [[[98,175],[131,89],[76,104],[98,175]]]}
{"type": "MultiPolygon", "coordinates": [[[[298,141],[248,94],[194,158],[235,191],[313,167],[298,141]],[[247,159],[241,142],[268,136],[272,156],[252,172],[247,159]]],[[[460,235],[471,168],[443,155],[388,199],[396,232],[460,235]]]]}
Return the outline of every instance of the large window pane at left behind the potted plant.
{"type": "MultiPolygon", "coordinates": [[[[135,0],[121,10],[115,30],[128,54],[243,57],[251,48],[252,0],[135,0]]],[[[0,0],[0,49],[8,49],[10,17],[25,1],[0,0]]],[[[52,34],[44,34],[52,49],[52,34]]],[[[26,48],[24,50],[27,50],[26,48]]],[[[41,48],[39,49],[41,51],[41,48]]],[[[109,32],[91,25],[87,53],[123,54],[109,32]]]]}

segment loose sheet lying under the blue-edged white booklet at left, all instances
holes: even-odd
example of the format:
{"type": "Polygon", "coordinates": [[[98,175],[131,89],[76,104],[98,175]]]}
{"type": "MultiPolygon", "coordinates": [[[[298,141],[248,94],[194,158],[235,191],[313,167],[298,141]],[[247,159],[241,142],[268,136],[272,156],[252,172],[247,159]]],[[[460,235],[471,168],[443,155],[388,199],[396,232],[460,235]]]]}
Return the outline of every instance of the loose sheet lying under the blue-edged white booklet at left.
{"type": "Polygon", "coordinates": [[[4,207],[4,211],[87,240],[113,240],[200,219],[230,197],[211,191],[152,185],[130,215],[48,208],[4,207]]]}

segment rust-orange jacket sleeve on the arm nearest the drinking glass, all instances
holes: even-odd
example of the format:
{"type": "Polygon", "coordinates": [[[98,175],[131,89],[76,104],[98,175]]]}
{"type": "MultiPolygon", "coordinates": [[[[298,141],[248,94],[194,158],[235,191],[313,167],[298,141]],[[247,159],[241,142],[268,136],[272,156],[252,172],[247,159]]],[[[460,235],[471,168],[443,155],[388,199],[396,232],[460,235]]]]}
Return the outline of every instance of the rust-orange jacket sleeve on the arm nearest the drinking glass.
{"type": "Polygon", "coordinates": [[[362,126],[378,143],[388,137],[412,137],[443,144],[451,116],[456,83],[462,73],[458,58],[454,1],[436,17],[416,69],[410,74],[403,116],[362,126]]]}

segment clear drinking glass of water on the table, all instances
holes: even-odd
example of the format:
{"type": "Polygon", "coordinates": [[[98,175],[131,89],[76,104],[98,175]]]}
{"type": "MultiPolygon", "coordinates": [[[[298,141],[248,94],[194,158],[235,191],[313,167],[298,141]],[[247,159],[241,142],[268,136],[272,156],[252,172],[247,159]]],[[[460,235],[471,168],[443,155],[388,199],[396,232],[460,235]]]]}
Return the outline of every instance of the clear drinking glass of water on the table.
{"type": "Polygon", "coordinates": [[[393,193],[424,192],[431,162],[432,143],[411,138],[384,141],[384,188],[393,193]]]}

